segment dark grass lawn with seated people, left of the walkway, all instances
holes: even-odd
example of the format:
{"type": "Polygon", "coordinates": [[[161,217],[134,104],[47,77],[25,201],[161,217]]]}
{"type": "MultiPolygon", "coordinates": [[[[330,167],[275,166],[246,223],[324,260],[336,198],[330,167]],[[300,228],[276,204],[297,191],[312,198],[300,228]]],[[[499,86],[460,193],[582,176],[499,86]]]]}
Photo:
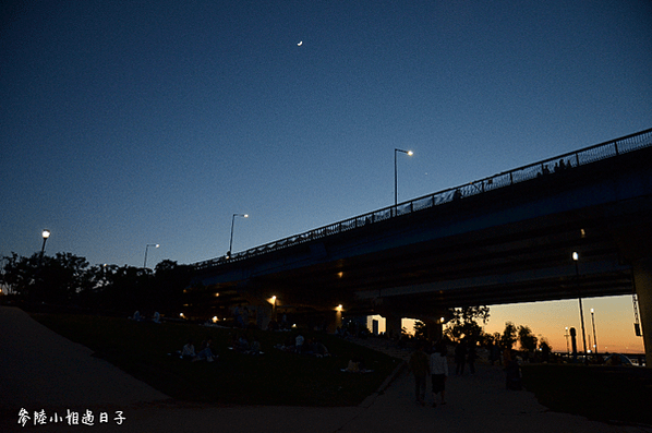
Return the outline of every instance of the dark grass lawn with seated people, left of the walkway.
{"type": "Polygon", "coordinates": [[[34,314],[33,317],[161,393],[186,401],[354,406],[373,394],[400,362],[335,336],[304,330],[301,334],[306,341],[317,337],[333,356],[316,358],[274,348],[298,332],[155,324],[89,315],[34,314]],[[237,333],[244,334],[250,341],[257,338],[264,354],[229,350],[237,333]],[[198,348],[207,337],[213,338],[213,352],[219,356],[215,362],[190,362],[168,354],[181,350],[188,339],[198,348]],[[373,372],[341,372],[352,356],[362,357],[373,372]]]}

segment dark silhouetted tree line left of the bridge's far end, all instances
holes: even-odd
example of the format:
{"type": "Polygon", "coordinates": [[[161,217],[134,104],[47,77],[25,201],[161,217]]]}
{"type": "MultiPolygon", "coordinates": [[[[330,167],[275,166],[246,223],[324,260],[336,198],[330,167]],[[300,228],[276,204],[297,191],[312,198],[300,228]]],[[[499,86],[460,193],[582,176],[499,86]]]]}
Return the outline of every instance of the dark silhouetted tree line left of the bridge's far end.
{"type": "Polygon", "coordinates": [[[105,313],[135,310],[179,314],[193,267],[165,260],[154,269],[90,265],[71,253],[3,256],[1,287],[8,299],[28,308],[64,305],[105,313]]]}

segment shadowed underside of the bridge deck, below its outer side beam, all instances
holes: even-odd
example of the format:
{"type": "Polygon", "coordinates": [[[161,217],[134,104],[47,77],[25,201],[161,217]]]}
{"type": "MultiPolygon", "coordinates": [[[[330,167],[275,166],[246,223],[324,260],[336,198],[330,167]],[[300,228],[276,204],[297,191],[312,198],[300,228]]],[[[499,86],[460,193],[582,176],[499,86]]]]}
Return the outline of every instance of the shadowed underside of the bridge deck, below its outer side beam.
{"type": "Polygon", "coordinates": [[[294,304],[342,303],[410,316],[438,316],[451,306],[631,294],[631,270],[614,239],[608,227],[564,214],[252,277],[245,286],[294,304]],[[573,251],[580,254],[577,269],[573,251]]]}

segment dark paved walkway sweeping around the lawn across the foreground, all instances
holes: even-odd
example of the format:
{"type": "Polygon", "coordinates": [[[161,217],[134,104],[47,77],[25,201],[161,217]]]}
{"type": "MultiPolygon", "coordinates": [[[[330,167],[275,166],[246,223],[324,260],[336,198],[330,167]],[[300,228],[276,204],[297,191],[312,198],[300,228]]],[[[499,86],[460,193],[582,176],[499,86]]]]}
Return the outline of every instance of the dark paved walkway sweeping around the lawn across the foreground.
{"type": "Polygon", "coordinates": [[[405,371],[358,407],[216,407],[174,401],[17,309],[0,308],[0,348],[2,432],[652,432],[551,412],[531,393],[506,390],[497,366],[479,365],[475,375],[450,377],[448,404],[437,408],[414,402],[412,377],[405,371]],[[24,428],[17,424],[21,408],[31,418],[24,428]],[[47,423],[34,425],[34,411],[40,409],[47,423]],[[73,426],[50,419],[68,410],[89,410],[94,425],[81,424],[81,418],[73,426]],[[125,417],[121,425],[117,411],[125,417]],[[108,422],[99,424],[102,412],[108,422]]]}

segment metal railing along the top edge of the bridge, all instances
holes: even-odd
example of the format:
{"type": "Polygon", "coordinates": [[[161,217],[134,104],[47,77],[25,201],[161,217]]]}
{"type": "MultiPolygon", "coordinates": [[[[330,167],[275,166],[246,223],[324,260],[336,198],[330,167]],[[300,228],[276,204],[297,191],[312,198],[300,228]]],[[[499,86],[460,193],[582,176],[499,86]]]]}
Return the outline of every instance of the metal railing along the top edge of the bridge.
{"type": "Polygon", "coordinates": [[[231,257],[218,257],[194,264],[195,268],[202,269],[220,264],[241,261],[252,256],[277,251],[288,246],[297,245],[315,239],[325,238],[331,234],[354,230],[370,224],[383,221],[389,218],[400,217],[414,212],[463,200],[487,191],[510,187],[515,183],[524,182],[542,176],[553,176],[556,172],[585,166],[602,159],[617,157],[618,155],[652,146],[652,129],[637,132],[620,139],[600,143],[576,152],[558,155],[539,163],[519,167],[509,171],[476,180],[460,187],[449,188],[444,191],[424,195],[409,202],[400,203],[369,214],[359,215],[353,218],[319,227],[304,233],[290,236],[274,242],[255,246],[246,251],[236,253],[231,257]]]}

